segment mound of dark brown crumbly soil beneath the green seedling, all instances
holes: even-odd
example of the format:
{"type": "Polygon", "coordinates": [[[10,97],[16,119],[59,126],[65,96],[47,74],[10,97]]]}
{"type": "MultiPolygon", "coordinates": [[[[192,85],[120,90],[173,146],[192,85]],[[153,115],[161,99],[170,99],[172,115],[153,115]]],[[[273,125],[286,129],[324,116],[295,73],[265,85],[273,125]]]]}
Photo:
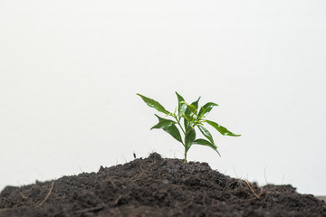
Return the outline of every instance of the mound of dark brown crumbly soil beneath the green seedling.
{"type": "Polygon", "coordinates": [[[326,216],[326,204],[291,185],[231,178],[206,163],[157,153],[98,173],[7,186],[0,216],[326,216]]]}

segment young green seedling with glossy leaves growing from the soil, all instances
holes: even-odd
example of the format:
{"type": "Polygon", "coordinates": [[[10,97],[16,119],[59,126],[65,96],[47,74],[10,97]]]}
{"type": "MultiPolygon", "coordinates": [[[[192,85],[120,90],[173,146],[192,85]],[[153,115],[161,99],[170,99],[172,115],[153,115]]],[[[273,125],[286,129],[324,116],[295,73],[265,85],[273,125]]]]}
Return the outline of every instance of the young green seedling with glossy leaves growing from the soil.
{"type": "Polygon", "coordinates": [[[211,111],[211,109],[217,106],[216,103],[207,102],[198,110],[198,101],[200,97],[197,99],[197,101],[188,104],[185,99],[183,99],[183,97],[181,97],[177,92],[176,94],[177,108],[175,109],[174,113],[164,109],[164,107],[154,99],[149,99],[139,93],[137,95],[139,95],[139,97],[141,97],[141,99],[143,99],[149,107],[157,109],[159,112],[166,114],[166,117],[174,118],[174,120],[161,118],[155,114],[155,116],[158,117],[158,124],[154,127],[151,127],[150,129],[162,128],[169,135],[177,139],[177,141],[179,141],[185,147],[185,164],[187,163],[187,151],[192,145],[210,146],[217,152],[219,156],[221,156],[217,151],[217,146],[214,143],[212,135],[205,127],[203,127],[204,123],[207,123],[210,126],[216,128],[216,130],[224,136],[241,136],[228,131],[225,127],[220,126],[214,121],[206,119],[206,115],[211,111]],[[177,126],[181,129],[183,138],[181,137],[177,126]],[[196,138],[197,134],[195,127],[197,127],[199,131],[204,135],[204,137],[206,137],[208,140],[204,138],[196,138]]]}

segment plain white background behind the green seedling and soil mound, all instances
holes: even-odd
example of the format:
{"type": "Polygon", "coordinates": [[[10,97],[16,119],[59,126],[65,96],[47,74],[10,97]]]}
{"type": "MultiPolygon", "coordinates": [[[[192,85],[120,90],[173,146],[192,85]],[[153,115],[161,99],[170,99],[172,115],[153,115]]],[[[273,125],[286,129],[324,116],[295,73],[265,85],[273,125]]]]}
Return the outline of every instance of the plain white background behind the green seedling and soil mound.
{"type": "Polygon", "coordinates": [[[97,172],[156,151],[177,90],[219,104],[222,157],[188,160],[326,194],[325,1],[0,1],[0,190],[97,172]]]}

